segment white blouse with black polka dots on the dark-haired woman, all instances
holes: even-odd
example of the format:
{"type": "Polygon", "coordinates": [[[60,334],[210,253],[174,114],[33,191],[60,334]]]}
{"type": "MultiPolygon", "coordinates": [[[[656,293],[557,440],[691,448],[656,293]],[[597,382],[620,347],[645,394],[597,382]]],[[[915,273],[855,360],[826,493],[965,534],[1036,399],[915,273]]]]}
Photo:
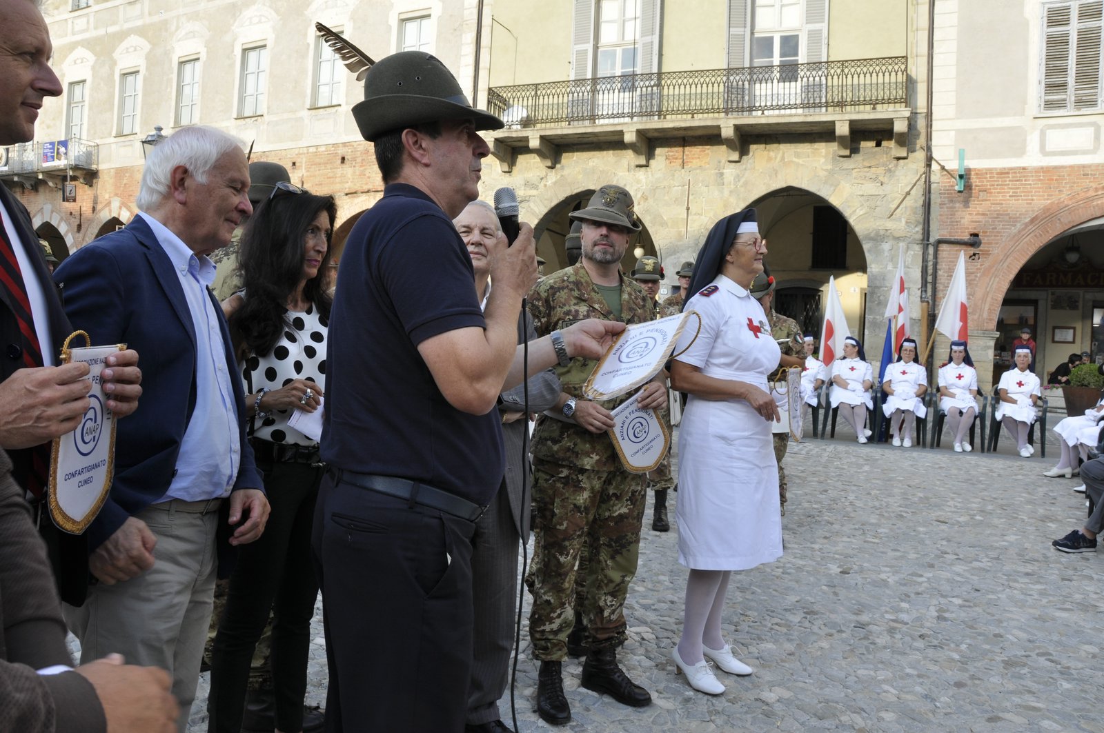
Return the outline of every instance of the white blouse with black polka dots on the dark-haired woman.
{"type": "MultiPolygon", "coordinates": [[[[291,380],[304,379],[326,389],[326,331],[329,323],[315,306],[306,311],[289,310],[285,316],[284,334],[266,357],[256,354],[242,365],[246,394],[262,387],[278,390],[291,380]]],[[[266,403],[267,404],[267,403],[266,403]]],[[[253,421],[253,436],[273,443],[317,445],[299,431],[288,427],[290,410],[276,410],[269,417],[253,421]]]]}

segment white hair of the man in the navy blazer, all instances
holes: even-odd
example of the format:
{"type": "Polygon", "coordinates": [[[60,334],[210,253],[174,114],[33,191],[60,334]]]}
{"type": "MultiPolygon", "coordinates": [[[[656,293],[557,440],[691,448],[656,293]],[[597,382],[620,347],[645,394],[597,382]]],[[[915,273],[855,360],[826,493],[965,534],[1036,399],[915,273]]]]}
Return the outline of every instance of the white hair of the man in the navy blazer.
{"type": "Polygon", "coordinates": [[[183,166],[192,178],[206,183],[208,173],[219,159],[243,147],[236,137],[213,127],[192,125],[177,130],[158,142],[146,158],[135,203],[141,211],[156,208],[169,195],[172,169],[177,166],[183,166]]]}

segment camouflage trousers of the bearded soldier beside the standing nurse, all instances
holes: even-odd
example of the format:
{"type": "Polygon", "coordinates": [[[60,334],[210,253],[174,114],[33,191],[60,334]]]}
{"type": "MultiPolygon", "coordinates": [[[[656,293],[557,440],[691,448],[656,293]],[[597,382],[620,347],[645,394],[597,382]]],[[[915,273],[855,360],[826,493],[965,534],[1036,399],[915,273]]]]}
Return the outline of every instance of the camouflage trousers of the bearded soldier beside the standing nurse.
{"type": "Polygon", "coordinates": [[[636,575],[644,519],[645,479],[617,469],[588,470],[544,461],[533,465],[533,563],[526,585],[533,596],[529,636],[533,656],[562,661],[575,622],[576,566],[584,592],[581,617],[591,648],[625,644],[625,597],[636,575]]]}

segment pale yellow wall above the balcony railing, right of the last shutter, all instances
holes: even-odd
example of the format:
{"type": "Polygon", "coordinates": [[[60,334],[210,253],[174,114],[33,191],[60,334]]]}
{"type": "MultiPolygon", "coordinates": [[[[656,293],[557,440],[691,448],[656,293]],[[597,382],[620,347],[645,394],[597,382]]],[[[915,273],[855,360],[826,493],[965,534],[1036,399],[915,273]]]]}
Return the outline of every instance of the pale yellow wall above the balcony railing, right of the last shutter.
{"type": "Polygon", "coordinates": [[[828,61],[904,56],[910,0],[831,0],[828,61]]]}

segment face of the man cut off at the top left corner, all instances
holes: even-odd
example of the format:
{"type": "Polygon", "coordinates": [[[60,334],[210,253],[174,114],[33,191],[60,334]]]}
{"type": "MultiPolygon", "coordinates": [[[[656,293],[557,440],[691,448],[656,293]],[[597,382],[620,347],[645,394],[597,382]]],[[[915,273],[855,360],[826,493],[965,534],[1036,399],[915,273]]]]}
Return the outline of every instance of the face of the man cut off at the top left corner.
{"type": "Polygon", "coordinates": [[[0,2],[0,145],[33,140],[42,100],[61,96],[52,53],[46,22],[31,0],[0,2]]]}

